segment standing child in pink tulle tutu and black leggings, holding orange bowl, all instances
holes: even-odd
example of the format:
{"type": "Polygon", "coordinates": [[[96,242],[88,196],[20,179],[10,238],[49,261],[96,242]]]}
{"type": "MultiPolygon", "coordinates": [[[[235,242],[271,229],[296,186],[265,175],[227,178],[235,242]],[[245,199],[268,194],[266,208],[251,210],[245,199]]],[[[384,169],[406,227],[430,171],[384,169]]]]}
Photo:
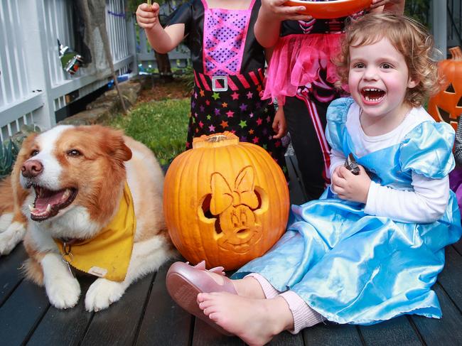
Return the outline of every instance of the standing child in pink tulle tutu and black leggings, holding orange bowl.
{"type": "MultiPolygon", "coordinates": [[[[338,54],[345,23],[362,16],[315,19],[300,16],[285,0],[262,0],[255,36],[274,47],[263,99],[284,108],[307,200],[318,198],[329,183],[329,146],[324,135],[328,104],[345,90],[331,58],[338,54]]],[[[302,8],[303,9],[303,8],[302,8]]],[[[373,0],[367,11],[403,13],[404,0],[373,0]]]]}

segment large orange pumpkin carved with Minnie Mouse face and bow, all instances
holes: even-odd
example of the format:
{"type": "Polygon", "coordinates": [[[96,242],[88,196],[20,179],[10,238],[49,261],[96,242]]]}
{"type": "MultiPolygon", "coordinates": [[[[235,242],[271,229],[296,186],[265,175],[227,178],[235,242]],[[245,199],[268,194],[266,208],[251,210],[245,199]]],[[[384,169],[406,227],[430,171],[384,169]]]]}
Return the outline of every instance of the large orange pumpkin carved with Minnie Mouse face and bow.
{"type": "Polygon", "coordinates": [[[192,264],[237,269],[281,237],[289,190],[263,148],[230,132],[201,136],[171,163],[163,188],[168,234],[192,264]]]}

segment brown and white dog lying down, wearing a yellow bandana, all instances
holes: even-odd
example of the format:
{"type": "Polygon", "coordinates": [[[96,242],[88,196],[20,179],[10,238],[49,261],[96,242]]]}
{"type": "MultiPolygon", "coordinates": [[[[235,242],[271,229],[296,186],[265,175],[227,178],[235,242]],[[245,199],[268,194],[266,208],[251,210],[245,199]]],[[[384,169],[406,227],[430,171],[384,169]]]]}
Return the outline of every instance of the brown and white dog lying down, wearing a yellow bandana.
{"type": "Polygon", "coordinates": [[[75,268],[100,276],[85,308],[102,310],[175,256],[162,190],[154,154],[120,131],[56,126],[32,135],[0,188],[0,251],[26,234],[26,276],[44,284],[56,308],[79,300],[75,268]]]}

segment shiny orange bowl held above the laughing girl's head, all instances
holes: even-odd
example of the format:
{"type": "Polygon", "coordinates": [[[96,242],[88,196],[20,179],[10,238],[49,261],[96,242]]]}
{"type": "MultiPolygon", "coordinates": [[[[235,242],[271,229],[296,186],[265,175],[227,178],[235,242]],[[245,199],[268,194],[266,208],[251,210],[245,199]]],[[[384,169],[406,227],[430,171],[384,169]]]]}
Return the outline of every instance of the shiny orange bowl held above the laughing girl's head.
{"type": "Polygon", "coordinates": [[[353,13],[366,9],[372,4],[372,0],[335,0],[335,1],[300,1],[289,0],[286,6],[304,6],[305,11],[299,13],[308,14],[313,18],[328,19],[350,16],[353,13]]]}

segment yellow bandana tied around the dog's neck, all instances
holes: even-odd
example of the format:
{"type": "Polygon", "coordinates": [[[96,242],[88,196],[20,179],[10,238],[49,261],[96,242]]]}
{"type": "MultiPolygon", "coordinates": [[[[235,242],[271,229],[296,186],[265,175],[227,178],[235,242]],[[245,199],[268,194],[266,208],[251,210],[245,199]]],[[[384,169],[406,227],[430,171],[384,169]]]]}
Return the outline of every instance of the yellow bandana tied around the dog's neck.
{"type": "Polygon", "coordinates": [[[88,274],[111,281],[124,281],[133,249],[136,217],[133,199],[127,182],[119,210],[95,238],[67,244],[54,239],[63,259],[88,274]]]}

